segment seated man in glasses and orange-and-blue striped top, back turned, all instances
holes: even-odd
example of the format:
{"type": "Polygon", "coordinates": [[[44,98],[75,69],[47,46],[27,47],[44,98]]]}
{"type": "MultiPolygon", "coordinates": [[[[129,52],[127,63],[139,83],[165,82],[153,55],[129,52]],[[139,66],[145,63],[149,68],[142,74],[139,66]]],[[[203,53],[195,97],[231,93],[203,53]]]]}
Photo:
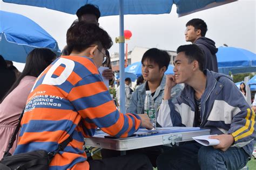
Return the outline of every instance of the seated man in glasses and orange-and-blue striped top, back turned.
{"type": "Polygon", "coordinates": [[[116,109],[98,72],[111,46],[109,34],[96,24],[71,25],[67,32],[71,54],[53,61],[38,77],[26,103],[15,154],[56,151],[72,138],[53,157],[50,169],[152,169],[144,155],[86,160],[84,138],[92,137],[97,128],[116,137],[127,137],[140,126],[152,128],[146,115],[121,114],[116,109]]]}

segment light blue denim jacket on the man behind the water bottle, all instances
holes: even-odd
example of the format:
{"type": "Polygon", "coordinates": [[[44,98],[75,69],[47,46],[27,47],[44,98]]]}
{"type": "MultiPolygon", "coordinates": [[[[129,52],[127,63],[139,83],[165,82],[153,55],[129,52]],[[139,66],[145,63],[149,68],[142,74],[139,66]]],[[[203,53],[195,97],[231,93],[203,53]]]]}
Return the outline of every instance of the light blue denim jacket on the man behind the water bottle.
{"type": "MultiPolygon", "coordinates": [[[[154,93],[154,108],[157,110],[160,107],[160,104],[164,97],[164,87],[165,87],[165,80],[166,76],[164,75],[160,86],[158,86],[156,93],[154,93]]],[[[171,97],[172,101],[176,102],[176,98],[180,95],[183,86],[181,84],[177,84],[175,87],[172,88],[171,97]]],[[[146,82],[139,86],[132,94],[130,105],[127,110],[129,113],[136,113],[136,114],[144,114],[144,100],[146,96],[146,82]]]]}

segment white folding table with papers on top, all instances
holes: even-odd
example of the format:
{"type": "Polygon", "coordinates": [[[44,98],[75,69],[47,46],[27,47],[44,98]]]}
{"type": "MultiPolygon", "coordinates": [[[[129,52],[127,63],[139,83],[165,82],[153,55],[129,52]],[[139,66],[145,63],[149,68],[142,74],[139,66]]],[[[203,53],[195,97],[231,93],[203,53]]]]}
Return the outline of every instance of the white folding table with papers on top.
{"type": "Polygon", "coordinates": [[[172,127],[156,130],[158,133],[148,136],[138,136],[138,134],[151,132],[140,129],[136,132],[135,137],[109,139],[105,138],[106,133],[102,131],[96,132],[92,138],[85,138],[86,146],[106,148],[117,151],[134,150],[137,148],[166,145],[179,143],[181,141],[193,140],[192,137],[210,134],[208,129],[188,128],[188,127],[172,127]],[[163,130],[164,129],[164,130],[163,130]]]}

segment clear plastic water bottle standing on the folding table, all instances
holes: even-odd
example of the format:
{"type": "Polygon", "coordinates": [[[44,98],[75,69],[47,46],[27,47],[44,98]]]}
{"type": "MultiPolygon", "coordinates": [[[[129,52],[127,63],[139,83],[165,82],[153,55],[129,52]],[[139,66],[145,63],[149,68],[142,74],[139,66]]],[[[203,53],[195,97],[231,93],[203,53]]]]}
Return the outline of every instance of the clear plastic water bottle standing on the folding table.
{"type": "Polygon", "coordinates": [[[151,96],[151,91],[146,91],[146,97],[144,101],[144,114],[147,114],[150,118],[150,122],[153,125],[153,129],[156,129],[156,110],[154,109],[154,100],[151,96]]]}

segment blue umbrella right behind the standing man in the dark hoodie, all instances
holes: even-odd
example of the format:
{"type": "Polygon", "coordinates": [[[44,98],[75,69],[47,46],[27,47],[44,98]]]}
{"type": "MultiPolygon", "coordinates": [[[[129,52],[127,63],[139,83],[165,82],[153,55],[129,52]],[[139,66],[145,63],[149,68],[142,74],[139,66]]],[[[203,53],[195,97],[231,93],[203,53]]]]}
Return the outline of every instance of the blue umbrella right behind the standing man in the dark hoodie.
{"type": "Polygon", "coordinates": [[[242,48],[219,47],[217,52],[219,73],[256,72],[256,54],[242,48]]]}

